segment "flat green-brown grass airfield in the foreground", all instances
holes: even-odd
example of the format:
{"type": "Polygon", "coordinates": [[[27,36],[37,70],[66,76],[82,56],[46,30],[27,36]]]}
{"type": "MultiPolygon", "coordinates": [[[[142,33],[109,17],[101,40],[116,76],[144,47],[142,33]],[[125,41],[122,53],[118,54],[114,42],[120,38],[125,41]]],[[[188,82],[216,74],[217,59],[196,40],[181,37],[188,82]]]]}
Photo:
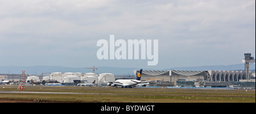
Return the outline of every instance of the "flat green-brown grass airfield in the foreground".
{"type": "Polygon", "coordinates": [[[85,103],[255,103],[255,90],[160,89],[69,86],[0,86],[1,91],[36,91],[46,93],[0,93],[0,102],[85,102],[85,103]],[[79,93],[79,94],[72,94],[79,93]]]}

